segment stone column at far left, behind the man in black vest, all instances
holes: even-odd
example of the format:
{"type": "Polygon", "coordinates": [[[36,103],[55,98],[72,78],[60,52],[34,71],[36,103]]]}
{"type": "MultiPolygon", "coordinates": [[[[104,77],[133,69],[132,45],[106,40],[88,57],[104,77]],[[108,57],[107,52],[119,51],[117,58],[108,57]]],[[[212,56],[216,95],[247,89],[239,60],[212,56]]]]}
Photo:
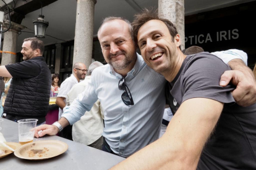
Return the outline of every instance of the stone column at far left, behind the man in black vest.
{"type": "MultiPolygon", "coordinates": [[[[4,21],[2,25],[2,29],[6,30],[9,27],[9,21],[4,21]]],[[[16,55],[11,54],[9,52],[16,53],[16,45],[18,33],[20,30],[23,30],[25,26],[19,25],[17,23],[11,22],[11,28],[7,32],[4,33],[4,43],[2,46],[2,65],[7,65],[10,63],[15,63],[16,55]]]]}

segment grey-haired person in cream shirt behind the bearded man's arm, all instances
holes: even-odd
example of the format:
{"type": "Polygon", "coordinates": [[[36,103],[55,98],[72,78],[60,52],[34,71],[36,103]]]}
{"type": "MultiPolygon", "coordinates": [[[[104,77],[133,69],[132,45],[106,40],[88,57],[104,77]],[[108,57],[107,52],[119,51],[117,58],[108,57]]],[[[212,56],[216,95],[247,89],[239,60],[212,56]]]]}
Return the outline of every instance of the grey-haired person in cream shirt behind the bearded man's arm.
{"type": "MultiPolygon", "coordinates": [[[[95,68],[103,66],[100,62],[93,62],[88,68],[88,75],[85,80],[75,84],[67,94],[69,104],[81,94],[88,83],[91,83],[91,75],[95,68]]],[[[97,100],[90,111],[85,111],[79,121],[73,124],[72,137],[75,142],[88,145],[89,147],[98,148],[101,150],[103,145],[103,108],[100,100],[97,100]]]]}

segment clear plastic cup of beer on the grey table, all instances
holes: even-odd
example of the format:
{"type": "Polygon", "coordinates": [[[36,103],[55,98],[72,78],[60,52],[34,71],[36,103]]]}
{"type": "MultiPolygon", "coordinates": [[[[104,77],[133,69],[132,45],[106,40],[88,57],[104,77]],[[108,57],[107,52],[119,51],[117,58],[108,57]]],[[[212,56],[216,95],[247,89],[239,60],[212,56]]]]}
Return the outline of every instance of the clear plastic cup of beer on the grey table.
{"type": "Polygon", "coordinates": [[[36,122],[38,119],[20,119],[19,123],[19,143],[24,145],[33,142],[36,122]]]}

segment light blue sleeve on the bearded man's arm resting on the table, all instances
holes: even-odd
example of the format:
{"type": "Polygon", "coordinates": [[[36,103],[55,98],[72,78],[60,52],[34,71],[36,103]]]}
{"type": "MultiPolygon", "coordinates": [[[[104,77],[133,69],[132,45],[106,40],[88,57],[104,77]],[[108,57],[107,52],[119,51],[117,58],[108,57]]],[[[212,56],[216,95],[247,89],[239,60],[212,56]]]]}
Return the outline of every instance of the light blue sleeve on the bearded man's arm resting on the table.
{"type": "Polygon", "coordinates": [[[72,125],[79,121],[85,114],[85,111],[90,111],[97,100],[98,97],[95,93],[92,76],[92,82],[88,83],[85,87],[85,91],[80,93],[69,107],[63,109],[64,112],[61,117],[66,118],[69,121],[69,124],[72,125]]]}

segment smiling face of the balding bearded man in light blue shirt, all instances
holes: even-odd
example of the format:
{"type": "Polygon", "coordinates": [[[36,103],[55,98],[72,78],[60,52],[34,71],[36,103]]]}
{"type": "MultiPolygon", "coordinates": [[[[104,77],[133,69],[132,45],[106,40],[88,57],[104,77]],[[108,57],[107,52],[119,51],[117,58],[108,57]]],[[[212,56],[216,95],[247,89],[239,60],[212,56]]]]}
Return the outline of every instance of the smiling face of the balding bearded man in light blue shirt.
{"type": "Polygon", "coordinates": [[[111,20],[104,23],[98,31],[104,59],[114,70],[129,72],[137,59],[135,44],[129,26],[123,20],[111,20]]]}

